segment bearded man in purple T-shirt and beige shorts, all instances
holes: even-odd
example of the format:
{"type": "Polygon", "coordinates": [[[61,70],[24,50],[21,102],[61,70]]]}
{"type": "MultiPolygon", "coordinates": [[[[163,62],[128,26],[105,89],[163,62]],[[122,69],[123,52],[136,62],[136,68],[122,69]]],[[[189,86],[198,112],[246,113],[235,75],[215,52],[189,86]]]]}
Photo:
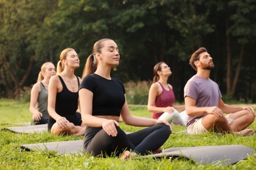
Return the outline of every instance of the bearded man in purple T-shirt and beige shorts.
{"type": "Polygon", "coordinates": [[[209,78],[214,64],[205,48],[192,54],[190,65],[197,73],[184,87],[188,133],[198,135],[215,131],[253,135],[253,129],[246,129],[255,119],[253,108],[232,107],[223,102],[218,84],[209,78]]]}

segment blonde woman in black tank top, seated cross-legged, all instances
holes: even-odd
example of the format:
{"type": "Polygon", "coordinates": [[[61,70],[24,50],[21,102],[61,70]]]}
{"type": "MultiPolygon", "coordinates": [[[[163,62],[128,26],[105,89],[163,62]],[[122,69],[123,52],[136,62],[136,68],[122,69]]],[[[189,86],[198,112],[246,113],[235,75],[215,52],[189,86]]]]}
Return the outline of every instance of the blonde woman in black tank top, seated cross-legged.
{"type": "Polygon", "coordinates": [[[85,135],[78,109],[78,88],[81,78],[74,75],[79,67],[79,58],[73,48],[66,48],[60,54],[57,75],[49,82],[48,130],[54,135],[85,135]]]}

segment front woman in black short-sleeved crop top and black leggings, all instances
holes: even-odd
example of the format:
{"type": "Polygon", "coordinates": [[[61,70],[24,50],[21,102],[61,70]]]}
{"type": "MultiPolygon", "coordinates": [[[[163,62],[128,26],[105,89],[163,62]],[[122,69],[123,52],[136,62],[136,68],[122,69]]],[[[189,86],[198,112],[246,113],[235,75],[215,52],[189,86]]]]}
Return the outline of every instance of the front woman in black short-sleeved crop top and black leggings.
{"type": "Polygon", "coordinates": [[[120,156],[121,159],[148,154],[165,143],[171,126],[164,120],[133,116],[129,111],[123,83],[112,78],[112,67],[119,65],[116,42],[101,39],[87,58],[79,88],[81,116],[87,125],[83,151],[94,156],[120,156]],[[131,126],[147,127],[126,134],[119,127],[119,117],[131,126]]]}

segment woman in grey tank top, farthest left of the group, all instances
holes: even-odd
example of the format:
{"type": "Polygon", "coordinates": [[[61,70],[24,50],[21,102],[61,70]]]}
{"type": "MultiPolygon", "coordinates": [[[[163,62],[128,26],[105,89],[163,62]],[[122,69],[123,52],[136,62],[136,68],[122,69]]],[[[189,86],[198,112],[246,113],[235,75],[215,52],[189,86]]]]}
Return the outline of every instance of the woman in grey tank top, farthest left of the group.
{"type": "Polygon", "coordinates": [[[56,71],[53,63],[43,63],[41,71],[38,74],[37,82],[33,84],[30,94],[31,125],[48,123],[48,85],[51,76],[54,75],[56,75],[56,71]]]}

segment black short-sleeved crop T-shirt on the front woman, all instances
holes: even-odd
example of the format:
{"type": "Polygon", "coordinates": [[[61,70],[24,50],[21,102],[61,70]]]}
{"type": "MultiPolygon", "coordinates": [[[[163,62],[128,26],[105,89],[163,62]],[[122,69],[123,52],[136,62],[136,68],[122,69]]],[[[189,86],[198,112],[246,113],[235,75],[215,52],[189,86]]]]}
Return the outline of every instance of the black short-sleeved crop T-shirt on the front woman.
{"type": "Polygon", "coordinates": [[[125,103],[122,82],[116,78],[108,80],[93,73],[83,78],[79,89],[81,88],[93,92],[93,116],[120,116],[125,103]]]}

